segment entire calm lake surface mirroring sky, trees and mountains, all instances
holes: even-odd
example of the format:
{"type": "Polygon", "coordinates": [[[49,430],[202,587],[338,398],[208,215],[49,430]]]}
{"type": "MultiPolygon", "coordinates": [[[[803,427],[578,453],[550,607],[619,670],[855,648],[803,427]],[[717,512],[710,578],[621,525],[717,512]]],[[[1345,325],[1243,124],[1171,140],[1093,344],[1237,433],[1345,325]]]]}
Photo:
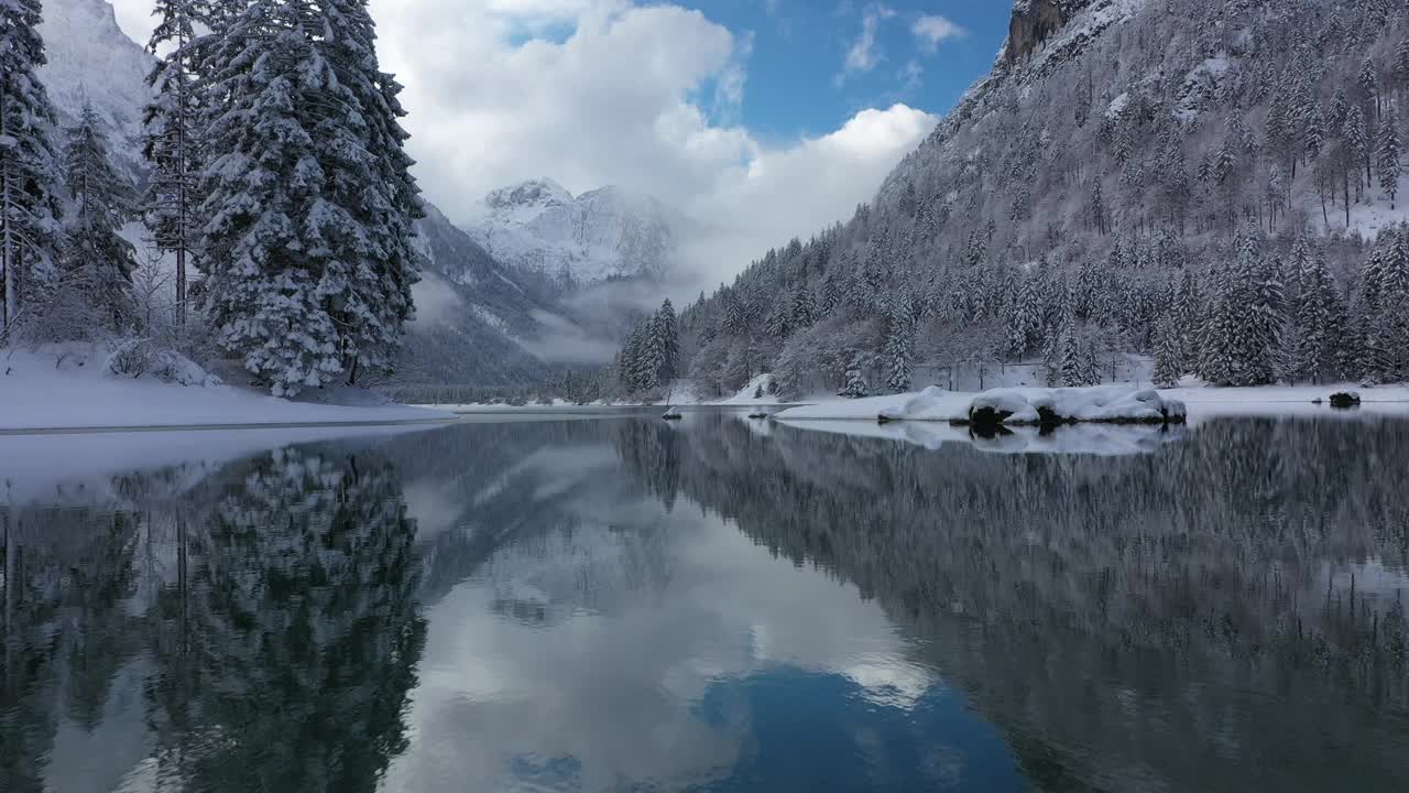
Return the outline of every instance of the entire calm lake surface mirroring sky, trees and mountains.
{"type": "Polygon", "coordinates": [[[72,452],[3,483],[0,790],[1409,790],[1409,422],[1113,440],[72,452]]]}

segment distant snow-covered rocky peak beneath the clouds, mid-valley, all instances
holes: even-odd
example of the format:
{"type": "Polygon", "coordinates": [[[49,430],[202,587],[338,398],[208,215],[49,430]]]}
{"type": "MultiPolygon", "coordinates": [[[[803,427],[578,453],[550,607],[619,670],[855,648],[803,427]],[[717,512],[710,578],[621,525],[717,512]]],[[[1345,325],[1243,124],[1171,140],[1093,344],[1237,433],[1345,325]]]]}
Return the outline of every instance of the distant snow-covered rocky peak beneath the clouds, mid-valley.
{"type": "Polygon", "coordinates": [[[573,196],[552,179],[490,192],[466,223],[495,258],[589,285],[609,278],[661,278],[690,222],[659,200],[600,188],[573,196]]]}

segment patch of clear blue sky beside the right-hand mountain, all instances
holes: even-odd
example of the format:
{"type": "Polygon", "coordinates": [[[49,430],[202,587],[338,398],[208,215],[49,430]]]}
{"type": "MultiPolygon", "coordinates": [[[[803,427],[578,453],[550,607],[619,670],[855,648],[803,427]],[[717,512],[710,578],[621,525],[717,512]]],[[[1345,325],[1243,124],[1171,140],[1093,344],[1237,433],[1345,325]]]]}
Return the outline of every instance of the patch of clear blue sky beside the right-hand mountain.
{"type": "Polygon", "coordinates": [[[993,65],[1010,14],[1010,4],[1002,0],[683,4],[735,35],[752,37],[738,120],[771,138],[823,134],[862,109],[896,102],[945,113],[993,65]],[[926,17],[943,17],[960,32],[938,42],[917,35],[914,28],[926,17]],[[848,71],[848,55],[862,41],[868,18],[875,31],[869,68],[854,62],[848,71]]]}

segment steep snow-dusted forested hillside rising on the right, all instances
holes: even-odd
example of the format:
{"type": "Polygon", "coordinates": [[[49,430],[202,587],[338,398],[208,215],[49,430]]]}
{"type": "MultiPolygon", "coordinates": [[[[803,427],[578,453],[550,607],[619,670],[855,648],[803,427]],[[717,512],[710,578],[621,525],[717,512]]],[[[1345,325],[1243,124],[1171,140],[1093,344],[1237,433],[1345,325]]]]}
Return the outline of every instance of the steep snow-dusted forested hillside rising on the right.
{"type": "Polygon", "coordinates": [[[871,205],[682,312],[679,368],[788,395],[1013,361],[1081,385],[1126,353],[1165,384],[1403,380],[1406,100],[1403,3],[1020,0],[871,205]]]}

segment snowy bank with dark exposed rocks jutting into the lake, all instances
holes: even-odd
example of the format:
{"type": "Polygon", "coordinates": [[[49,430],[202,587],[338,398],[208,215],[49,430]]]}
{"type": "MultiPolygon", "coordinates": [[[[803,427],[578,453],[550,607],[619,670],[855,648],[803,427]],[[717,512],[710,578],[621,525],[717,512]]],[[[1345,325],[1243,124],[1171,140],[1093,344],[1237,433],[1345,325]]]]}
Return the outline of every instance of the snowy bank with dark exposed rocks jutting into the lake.
{"type": "Polygon", "coordinates": [[[790,408],[778,420],[862,419],[948,422],[955,425],[1040,426],[1064,423],[1184,423],[1184,402],[1148,388],[998,388],[960,394],[926,388],[919,394],[872,396],[790,408]]]}

